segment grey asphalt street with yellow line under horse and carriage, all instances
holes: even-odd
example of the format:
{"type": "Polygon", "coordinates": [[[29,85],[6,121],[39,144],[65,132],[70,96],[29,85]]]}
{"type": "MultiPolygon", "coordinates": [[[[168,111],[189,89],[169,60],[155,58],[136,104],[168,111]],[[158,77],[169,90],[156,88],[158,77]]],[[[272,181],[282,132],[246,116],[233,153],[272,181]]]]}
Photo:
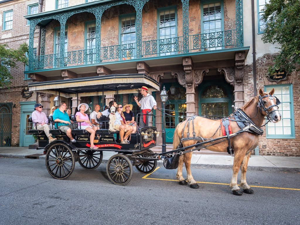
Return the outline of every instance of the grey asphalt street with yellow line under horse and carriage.
{"type": "Polygon", "coordinates": [[[164,167],[149,176],[134,168],[131,182],[117,186],[105,163],[91,171],[76,163],[57,180],[44,160],[0,158],[0,224],[299,224],[299,173],[249,170],[254,194],[235,196],[231,170],[192,172],[199,189],[180,186],[164,167]]]}

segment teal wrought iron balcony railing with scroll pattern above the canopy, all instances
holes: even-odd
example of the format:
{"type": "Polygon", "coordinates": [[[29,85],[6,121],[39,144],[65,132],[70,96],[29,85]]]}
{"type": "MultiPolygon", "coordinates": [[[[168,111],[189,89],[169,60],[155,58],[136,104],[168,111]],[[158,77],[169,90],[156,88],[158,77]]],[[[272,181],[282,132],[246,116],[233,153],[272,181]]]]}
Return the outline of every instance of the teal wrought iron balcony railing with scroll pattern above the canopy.
{"type": "MultiPolygon", "coordinates": [[[[142,41],[142,58],[162,57],[183,54],[183,38],[164,38],[142,41]]],[[[64,67],[99,62],[124,61],[137,58],[137,44],[102,46],[100,52],[95,48],[65,52],[64,67]],[[97,55],[99,54],[99,55],[97,55]]],[[[189,36],[189,53],[229,49],[236,47],[236,31],[227,30],[189,36]]],[[[60,54],[40,55],[33,57],[33,69],[43,70],[61,67],[60,54]]]]}

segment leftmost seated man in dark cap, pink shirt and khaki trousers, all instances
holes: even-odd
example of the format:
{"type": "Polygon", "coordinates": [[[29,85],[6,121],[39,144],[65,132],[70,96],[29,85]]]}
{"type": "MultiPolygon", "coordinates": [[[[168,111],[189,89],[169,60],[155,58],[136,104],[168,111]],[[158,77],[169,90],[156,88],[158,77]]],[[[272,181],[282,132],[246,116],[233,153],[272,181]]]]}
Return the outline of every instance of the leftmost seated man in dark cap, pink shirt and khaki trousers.
{"type": "Polygon", "coordinates": [[[43,106],[40,103],[35,104],[35,111],[32,112],[31,118],[32,122],[36,123],[33,125],[33,129],[38,129],[39,131],[44,131],[46,136],[49,138],[49,143],[57,140],[52,137],[52,134],[49,134],[48,118],[44,112],[42,112],[43,106]]]}

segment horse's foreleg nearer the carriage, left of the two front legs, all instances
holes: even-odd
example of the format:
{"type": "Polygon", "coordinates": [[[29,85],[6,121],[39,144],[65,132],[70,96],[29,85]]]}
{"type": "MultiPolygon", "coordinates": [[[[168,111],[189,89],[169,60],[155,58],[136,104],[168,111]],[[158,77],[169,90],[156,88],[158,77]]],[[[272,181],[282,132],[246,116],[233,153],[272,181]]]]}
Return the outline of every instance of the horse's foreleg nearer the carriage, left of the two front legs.
{"type": "Polygon", "coordinates": [[[238,171],[240,169],[241,163],[243,161],[243,152],[242,150],[240,151],[235,151],[235,156],[233,159],[233,167],[232,167],[232,178],[229,184],[229,187],[231,188],[232,192],[234,195],[242,195],[243,193],[241,192],[240,188],[238,187],[238,171]]]}

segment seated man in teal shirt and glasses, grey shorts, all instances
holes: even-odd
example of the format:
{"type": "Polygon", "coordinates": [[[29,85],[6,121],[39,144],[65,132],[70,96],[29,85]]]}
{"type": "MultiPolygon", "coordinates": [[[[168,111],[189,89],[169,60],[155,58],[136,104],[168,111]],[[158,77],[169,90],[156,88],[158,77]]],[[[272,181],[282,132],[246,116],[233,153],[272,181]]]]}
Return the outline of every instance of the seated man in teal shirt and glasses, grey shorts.
{"type": "Polygon", "coordinates": [[[67,105],[65,102],[60,102],[58,104],[58,109],[53,112],[53,121],[55,123],[55,128],[58,128],[62,132],[66,133],[67,137],[70,138],[71,142],[76,142],[73,138],[71,129],[73,128],[73,121],[70,121],[69,115],[65,112],[67,105]],[[57,127],[58,126],[58,127],[57,127]]]}

